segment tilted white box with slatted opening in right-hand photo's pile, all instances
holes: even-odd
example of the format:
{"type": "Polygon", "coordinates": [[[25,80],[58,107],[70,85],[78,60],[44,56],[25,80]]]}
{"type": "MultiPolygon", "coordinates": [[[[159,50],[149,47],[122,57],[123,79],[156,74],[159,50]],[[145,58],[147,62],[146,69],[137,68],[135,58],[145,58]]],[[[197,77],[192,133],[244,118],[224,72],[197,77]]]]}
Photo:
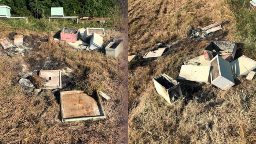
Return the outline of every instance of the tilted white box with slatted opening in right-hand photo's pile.
{"type": "Polygon", "coordinates": [[[224,60],[220,56],[215,56],[211,62],[212,70],[210,72],[211,83],[222,90],[234,86],[234,78],[232,70],[228,61],[224,60]]]}

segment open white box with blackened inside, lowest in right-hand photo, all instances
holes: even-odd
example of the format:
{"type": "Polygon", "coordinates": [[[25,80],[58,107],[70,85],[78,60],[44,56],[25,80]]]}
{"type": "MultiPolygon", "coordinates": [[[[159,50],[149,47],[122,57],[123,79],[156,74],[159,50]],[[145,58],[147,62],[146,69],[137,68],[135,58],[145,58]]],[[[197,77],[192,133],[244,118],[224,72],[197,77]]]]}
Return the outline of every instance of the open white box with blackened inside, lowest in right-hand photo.
{"type": "Polygon", "coordinates": [[[156,92],[162,96],[169,104],[176,102],[178,99],[182,99],[182,92],[180,89],[180,83],[172,79],[166,74],[161,74],[153,78],[156,92]]]}

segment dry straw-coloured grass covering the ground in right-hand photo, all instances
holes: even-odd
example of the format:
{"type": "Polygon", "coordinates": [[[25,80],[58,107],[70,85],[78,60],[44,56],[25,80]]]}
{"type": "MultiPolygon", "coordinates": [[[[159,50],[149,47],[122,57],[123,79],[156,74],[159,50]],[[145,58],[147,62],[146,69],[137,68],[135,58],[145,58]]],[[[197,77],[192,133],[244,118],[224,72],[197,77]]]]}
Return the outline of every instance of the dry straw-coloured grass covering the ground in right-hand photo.
{"type": "Polygon", "coordinates": [[[168,104],[154,88],[162,73],[177,80],[181,62],[203,54],[207,44],[236,41],[235,58],[256,60],[255,9],[244,0],[128,0],[129,64],[128,141],[136,144],[245,144],[256,143],[256,81],[244,76],[223,91],[211,84],[181,81],[184,100],[168,104]],[[195,14],[190,12],[196,12],[195,14]],[[222,30],[202,40],[188,38],[192,31],[219,22],[222,30]],[[142,56],[162,42],[162,57],[142,56]]]}

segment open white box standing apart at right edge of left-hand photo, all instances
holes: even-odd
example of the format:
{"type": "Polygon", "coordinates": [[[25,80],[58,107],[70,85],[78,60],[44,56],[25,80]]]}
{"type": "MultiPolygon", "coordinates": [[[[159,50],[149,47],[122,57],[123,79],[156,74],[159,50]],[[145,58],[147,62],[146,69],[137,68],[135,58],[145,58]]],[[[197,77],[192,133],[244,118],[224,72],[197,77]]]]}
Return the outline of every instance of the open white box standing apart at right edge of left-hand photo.
{"type": "Polygon", "coordinates": [[[113,42],[110,42],[108,46],[106,46],[106,56],[113,56],[116,58],[123,51],[123,40],[114,38],[113,42]]]}

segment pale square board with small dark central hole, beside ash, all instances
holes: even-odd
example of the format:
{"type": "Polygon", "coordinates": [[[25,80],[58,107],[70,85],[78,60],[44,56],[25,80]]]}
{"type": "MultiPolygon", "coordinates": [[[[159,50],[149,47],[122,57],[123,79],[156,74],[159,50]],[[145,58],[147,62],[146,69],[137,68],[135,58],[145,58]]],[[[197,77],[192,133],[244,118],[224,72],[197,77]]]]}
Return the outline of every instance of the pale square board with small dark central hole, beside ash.
{"type": "Polygon", "coordinates": [[[54,89],[61,88],[61,72],[60,70],[40,70],[39,76],[46,79],[43,88],[54,89]]]}

